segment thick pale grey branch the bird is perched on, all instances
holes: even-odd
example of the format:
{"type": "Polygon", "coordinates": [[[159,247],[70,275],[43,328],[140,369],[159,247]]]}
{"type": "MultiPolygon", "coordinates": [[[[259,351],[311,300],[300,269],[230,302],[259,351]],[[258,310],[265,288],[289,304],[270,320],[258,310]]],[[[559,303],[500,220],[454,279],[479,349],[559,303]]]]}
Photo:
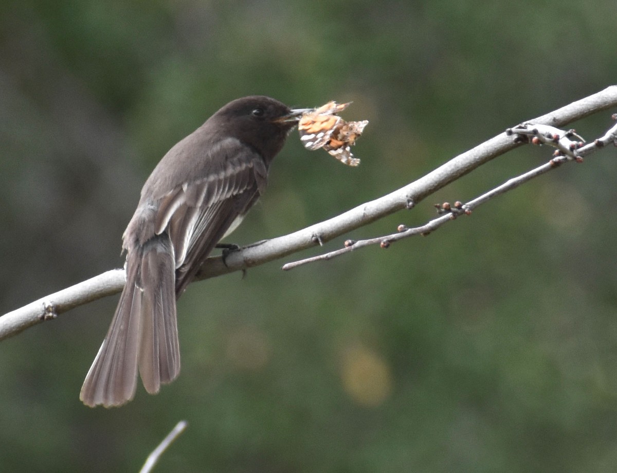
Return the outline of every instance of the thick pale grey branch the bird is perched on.
{"type": "MultiPolygon", "coordinates": [[[[562,127],[566,123],[582,119],[611,107],[617,107],[617,85],[609,86],[605,90],[561,107],[549,114],[528,120],[528,122],[534,123],[534,125],[562,127]]],[[[518,133],[518,130],[513,131],[518,133]]],[[[381,198],[361,204],[337,217],[311,225],[289,235],[254,243],[246,248],[234,251],[228,254],[225,263],[223,263],[223,259],[220,256],[209,257],[204,262],[199,274],[197,274],[196,280],[217,277],[229,272],[258,266],[273,259],[296,253],[302,249],[320,245],[325,241],[332,240],[337,236],[370,224],[394,212],[410,209],[450,182],[468,174],[468,172],[471,172],[485,162],[520,146],[520,141],[513,139],[513,136],[508,135],[506,132],[500,133],[475,148],[454,157],[415,182],[381,198]]],[[[611,141],[615,141],[615,127],[611,128],[602,138],[594,141],[594,144],[598,148],[611,141]],[[601,144],[598,144],[599,142],[601,144]]],[[[583,151],[583,148],[578,149],[577,153],[580,154],[581,151],[583,151]]],[[[452,217],[450,215],[439,217],[439,219],[442,218],[450,219],[452,217]]],[[[428,225],[435,224],[429,222],[428,225]]],[[[428,228],[428,231],[432,228],[432,226],[428,228]]],[[[342,251],[347,251],[347,249],[342,248],[342,251]]],[[[53,319],[58,314],[69,309],[117,293],[122,290],[123,285],[124,271],[120,269],[111,270],[70,288],[38,299],[27,306],[23,306],[0,317],[0,340],[16,335],[22,330],[44,320],[53,319]]]]}

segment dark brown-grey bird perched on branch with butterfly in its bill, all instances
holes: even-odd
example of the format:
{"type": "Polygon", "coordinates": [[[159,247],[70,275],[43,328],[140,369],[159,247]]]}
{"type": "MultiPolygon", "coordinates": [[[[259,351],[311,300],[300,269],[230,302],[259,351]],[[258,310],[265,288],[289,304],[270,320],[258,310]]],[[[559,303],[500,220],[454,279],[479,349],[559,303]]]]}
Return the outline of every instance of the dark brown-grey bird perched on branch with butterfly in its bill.
{"type": "Polygon", "coordinates": [[[157,393],[180,372],[176,299],[266,188],[270,162],[307,109],[265,96],[228,103],[161,159],[123,235],[126,285],[81,387],[88,406],[157,393]]]}

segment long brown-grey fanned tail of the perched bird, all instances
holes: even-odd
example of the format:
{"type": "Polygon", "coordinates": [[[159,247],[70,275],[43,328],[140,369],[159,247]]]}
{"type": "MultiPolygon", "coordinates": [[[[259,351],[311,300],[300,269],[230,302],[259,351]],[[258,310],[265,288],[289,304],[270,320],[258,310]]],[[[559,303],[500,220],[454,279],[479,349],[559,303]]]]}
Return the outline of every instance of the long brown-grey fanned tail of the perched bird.
{"type": "Polygon", "coordinates": [[[126,285],[109,332],[81,387],[88,406],[120,406],[135,396],[137,370],[149,393],[180,373],[175,258],[166,233],[126,257],[126,285]]]}

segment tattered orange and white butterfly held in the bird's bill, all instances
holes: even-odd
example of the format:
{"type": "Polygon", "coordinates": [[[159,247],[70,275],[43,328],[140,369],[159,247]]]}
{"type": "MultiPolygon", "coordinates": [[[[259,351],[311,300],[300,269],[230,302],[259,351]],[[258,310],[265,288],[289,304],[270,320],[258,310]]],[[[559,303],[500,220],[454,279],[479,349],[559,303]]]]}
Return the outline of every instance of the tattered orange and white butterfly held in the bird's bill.
{"type": "Polygon", "coordinates": [[[343,164],[357,166],[360,159],[354,157],[351,146],[362,135],[368,120],[346,122],[337,114],[350,103],[337,104],[334,101],[305,113],[298,122],[300,141],[311,151],[323,148],[343,164]]]}

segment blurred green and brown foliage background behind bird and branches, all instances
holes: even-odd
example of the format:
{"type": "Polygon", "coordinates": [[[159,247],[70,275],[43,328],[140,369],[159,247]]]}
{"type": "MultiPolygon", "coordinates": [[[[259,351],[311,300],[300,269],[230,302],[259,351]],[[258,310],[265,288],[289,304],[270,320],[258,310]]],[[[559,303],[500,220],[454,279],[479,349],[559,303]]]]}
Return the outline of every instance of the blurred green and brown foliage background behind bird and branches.
{"type": "MultiPolygon", "coordinates": [[[[246,244],[615,83],[616,18],[615,0],[1,2],[0,312],[122,266],[147,175],[231,99],[352,100],[344,116],[370,120],[355,169],[291,135],[246,244]]],[[[326,248],[550,153],[520,148],[326,248]]],[[[617,471],[615,157],[387,251],[191,285],[179,379],[120,409],[78,399],[117,296],[3,341],[0,471],[138,471],[180,419],[156,471],[617,471]]]]}

